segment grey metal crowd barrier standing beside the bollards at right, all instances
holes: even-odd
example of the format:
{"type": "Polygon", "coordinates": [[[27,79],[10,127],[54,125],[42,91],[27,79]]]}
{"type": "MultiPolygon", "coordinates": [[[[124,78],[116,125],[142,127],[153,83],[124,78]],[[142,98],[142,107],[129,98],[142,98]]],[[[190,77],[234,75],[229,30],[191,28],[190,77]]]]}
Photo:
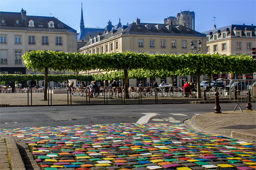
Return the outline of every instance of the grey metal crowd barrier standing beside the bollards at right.
{"type": "MultiPolygon", "coordinates": [[[[232,103],[237,103],[234,111],[236,111],[237,107],[239,107],[239,109],[242,111],[239,103],[249,103],[249,105],[251,103],[255,103],[255,82],[255,79],[234,79],[230,81],[229,100],[232,103]]],[[[247,110],[251,110],[251,108],[247,110]]]]}

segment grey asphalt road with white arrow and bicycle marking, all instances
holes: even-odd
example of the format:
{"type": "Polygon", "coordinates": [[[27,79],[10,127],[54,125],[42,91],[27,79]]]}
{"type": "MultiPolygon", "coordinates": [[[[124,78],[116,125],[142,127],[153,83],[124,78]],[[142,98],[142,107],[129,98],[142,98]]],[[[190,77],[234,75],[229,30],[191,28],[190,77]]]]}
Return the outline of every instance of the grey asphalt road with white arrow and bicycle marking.
{"type": "MultiPolygon", "coordinates": [[[[240,104],[242,109],[245,109],[245,105],[240,104]]],[[[214,104],[150,104],[2,107],[0,109],[0,128],[106,123],[183,123],[184,120],[195,114],[213,112],[214,106],[214,104]]],[[[227,111],[234,110],[236,104],[223,103],[220,106],[221,111],[227,111]]]]}

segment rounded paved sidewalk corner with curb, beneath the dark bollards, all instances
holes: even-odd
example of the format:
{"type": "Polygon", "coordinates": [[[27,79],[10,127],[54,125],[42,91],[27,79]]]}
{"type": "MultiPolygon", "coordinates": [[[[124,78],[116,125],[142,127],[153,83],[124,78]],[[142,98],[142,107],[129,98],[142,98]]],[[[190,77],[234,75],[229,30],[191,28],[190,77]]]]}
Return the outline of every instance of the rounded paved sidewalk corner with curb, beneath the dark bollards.
{"type": "Polygon", "coordinates": [[[223,111],[206,113],[186,120],[186,126],[210,134],[223,135],[242,141],[256,142],[256,111],[223,111]]]}

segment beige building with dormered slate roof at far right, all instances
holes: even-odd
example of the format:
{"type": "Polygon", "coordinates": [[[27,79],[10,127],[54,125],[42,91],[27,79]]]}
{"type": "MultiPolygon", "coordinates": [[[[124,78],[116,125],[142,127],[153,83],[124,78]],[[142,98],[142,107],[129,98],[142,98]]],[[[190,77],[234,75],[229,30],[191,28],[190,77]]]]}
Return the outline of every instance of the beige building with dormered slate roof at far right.
{"type": "MultiPolygon", "coordinates": [[[[256,26],[251,25],[227,25],[202,32],[207,36],[207,54],[219,53],[222,55],[252,55],[252,48],[256,47],[256,26]]],[[[226,78],[230,75],[222,73],[214,75],[214,79],[226,78]]],[[[256,79],[256,74],[236,75],[236,79],[256,79]]],[[[233,79],[234,79],[233,78],[233,79]]],[[[232,79],[232,78],[231,78],[232,79]]]]}

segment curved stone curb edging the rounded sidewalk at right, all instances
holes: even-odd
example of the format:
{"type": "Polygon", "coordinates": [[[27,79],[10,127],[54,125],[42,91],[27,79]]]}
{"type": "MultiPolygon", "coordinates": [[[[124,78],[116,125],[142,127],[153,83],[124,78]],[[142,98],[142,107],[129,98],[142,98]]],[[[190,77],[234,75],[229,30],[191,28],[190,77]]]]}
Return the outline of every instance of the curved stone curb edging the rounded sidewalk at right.
{"type": "MultiPolygon", "coordinates": [[[[206,114],[206,113],[204,113],[206,114]]],[[[196,124],[196,117],[199,116],[201,114],[192,116],[191,119],[187,119],[184,121],[184,124],[186,126],[191,127],[192,129],[196,130],[196,131],[202,131],[204,133],[209,133],[209,134],[213,134],[213,135],[222,135],[228,138],[235,138],[238,140],[242,140],[242,141],[246,141],[246,142],[255,142],[256,141],[256,137],[255,135],[251,135],[251,134],[246,134],[246,133],[241,133],[241,132],[236,132],[236,131],[231,131],[231,132],[226,132],[226,131],[209,131],[206,129],[203,129],[202,127],[200,127],[199,125],[196,124]]]]}

